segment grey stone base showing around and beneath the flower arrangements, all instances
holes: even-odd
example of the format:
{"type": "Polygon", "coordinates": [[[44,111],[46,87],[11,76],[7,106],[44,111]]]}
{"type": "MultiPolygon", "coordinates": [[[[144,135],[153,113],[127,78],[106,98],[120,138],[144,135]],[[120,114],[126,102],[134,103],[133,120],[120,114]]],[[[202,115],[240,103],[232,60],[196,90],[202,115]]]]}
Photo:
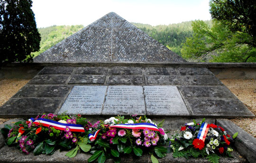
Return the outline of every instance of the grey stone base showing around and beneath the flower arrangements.
{"type": "MultiPolygon", "coordinates": [[[[92,122],[95,122],[100,117],[89,118],[92,122]]],[[[4,124],[13,124],[13,122],[20,119],[12,119],[4,124]]],[[[103,120],[103,119],[102,119],[103,120]]],[[[161,121],[160,119],[152,119],[156,122],[161,121]]],[[[200,121],[201,119],[196,119],[200,121]]],[[[168,136],[171,137],[172,134],[182,126],[185,122],[192,122],[192,119],[189,118],[166,118],[164,122],[164,129],[166,131],[171,131],[168,136]]],[[[239,132],[238,139],[242,142],[235,143],[235,150],[232,152],[234,158],[221,157],[219,163],[255,163],[256,160],[256,139],[249,134],[247,134],[243,129],[236,126],[229,120],[220,120],[220,119],[207,119],[208,123],[216,123],[221,125],[223,128],[229,131],[229,134],[232,135],[235,132],[239,132]]],[[[0,128],[3,125],[0,125],[0,128]]],[[[8,147],[4,145],[4,139],[0,135],[0,163],[86,163],[91,154],[78,153],[73,158],[68,158],[65,156],[67,151],[56,151],[53,155],[38,155],[34,154],[23,154],[20,153],[18,149],[14,147],[8,147]]],[[[166,157],[158,159],[159,163],[209,163],[207,159],[204,158],[190,158],[186,160],[185,158],[174,158],[172,153],[167,154],[166,157]]],[[[112,160],[107,160],[106,163],[112,163],[112,160]]],[[[150,155],[143,154],[142,157],[137,157],[134,155],[125,154],[122,157],[121,163],[150,163],[150,155]]]]}

